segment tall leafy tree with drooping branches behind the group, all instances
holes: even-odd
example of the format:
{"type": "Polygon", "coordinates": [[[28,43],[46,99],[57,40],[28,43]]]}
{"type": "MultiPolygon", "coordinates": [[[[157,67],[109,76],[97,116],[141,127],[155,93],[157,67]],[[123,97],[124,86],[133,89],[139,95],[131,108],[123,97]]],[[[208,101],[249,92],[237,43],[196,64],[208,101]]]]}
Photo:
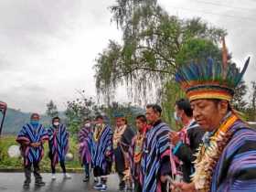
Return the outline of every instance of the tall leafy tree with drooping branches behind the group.
{"type": "Polygon", "coordinates": [[[200,57],[208,53],[219,57],[218,42],[226,35],[200,18],[169,16],[155,0],[118,0],[111,12],[112,21],[123,32],[123,42],[110,40],[94,66],[98,94],[108,104],[114,99],[115,88],[125,84],[130,98],[139,104],[157,101],[164,107],[173,106],[165,101],[183,94],[180,89],[170,89],[176,86],[176,67],[195,56],[196,48],[208,49],[200,52],[200,57]],[[189,46],[195,52],[187,53],[189,46]]]}

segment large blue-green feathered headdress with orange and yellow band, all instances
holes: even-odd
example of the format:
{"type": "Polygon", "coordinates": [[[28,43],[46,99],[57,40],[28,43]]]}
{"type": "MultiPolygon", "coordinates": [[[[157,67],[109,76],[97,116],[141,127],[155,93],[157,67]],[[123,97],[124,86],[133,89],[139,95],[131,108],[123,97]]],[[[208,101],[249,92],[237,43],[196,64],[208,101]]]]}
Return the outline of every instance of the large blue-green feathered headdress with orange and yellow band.
{"type": "Polygon", "coordinates": [[[186,91],[190,101],[197,99],[220,99],[231,101],[234,90],[245,73],[250,57],[240,71],[235,64],[228,63],[225,39],[222,39],[222,63],[208,58],[206,62],[191,62],[176,71],[176,82],[186,91]]]}

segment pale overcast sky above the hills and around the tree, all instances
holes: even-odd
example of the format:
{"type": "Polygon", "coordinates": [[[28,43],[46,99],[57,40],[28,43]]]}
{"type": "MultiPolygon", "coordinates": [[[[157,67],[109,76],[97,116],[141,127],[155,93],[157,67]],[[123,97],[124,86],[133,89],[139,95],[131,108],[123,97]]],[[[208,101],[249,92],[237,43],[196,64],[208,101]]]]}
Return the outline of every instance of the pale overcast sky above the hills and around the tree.
{"type": "MultiPolygon", "coordinates": [[[[45,112],[53,100],[59,110],[76,90],[95,96],[97,54],[121,33],[111,23],[114,0],[1,0],[0,101],[24,112],[45,112]]],[[[201,16],[228,30],[227,45],[242,64],[251,66],[245,80],[256,80],[256,2],[253,0],[160,0],[167,12],[201,16]]],[[[123,89],[121,89],[123,92],[123,89]]],[[[122,93],[117,99],[125,101],[122,93]]]]}

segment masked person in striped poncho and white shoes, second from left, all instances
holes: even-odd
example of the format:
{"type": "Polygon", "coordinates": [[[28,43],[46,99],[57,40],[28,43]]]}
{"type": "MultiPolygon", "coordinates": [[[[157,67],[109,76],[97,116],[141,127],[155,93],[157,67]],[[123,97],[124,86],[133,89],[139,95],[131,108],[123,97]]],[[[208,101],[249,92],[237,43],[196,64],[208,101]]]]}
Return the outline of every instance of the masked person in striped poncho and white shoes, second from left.
{"type": "Polygon", "coordinates": [[[59,117],[52,119],[52,125],[48,129],[48,156],[51,162],[51,173],[52,180],[56,179],[56,165],[60,164],[64,178],[71,178],[66,173],[65,156],[69,150],[69,133],[67,132],[66,126],[60,123],[59,117]]]}

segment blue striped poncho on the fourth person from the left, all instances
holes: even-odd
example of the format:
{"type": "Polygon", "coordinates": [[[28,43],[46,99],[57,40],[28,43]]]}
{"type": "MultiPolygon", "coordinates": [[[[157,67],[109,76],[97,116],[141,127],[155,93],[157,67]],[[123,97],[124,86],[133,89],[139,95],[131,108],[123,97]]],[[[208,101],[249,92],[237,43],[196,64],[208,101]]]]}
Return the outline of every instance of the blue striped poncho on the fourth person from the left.
{"type": "Polygon", "coordinates": [[[106,152],[112,153],[112,129],[109,125],[105,125],[98,141],[94,141],[95,153],[93,154],[93,166],[99,166],[106,172],[107,156],[106,152]]]}

